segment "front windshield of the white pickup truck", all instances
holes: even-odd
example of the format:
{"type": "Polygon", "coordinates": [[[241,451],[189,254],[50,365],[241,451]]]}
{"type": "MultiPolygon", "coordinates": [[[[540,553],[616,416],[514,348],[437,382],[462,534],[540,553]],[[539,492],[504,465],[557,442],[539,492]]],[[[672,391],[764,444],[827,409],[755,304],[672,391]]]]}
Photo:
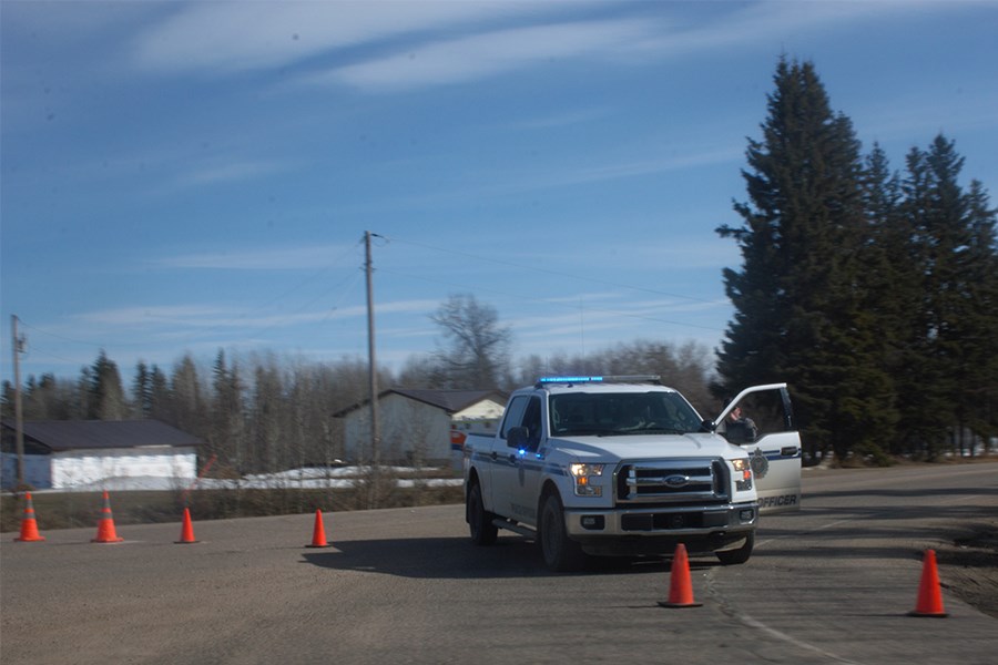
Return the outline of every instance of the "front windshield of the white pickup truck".
{"type": "Polygon", "coordinates": [[[569,392],[551,396],[554,436],[629,436],[701,431],[702,420],[678,392],[569,392]]]}

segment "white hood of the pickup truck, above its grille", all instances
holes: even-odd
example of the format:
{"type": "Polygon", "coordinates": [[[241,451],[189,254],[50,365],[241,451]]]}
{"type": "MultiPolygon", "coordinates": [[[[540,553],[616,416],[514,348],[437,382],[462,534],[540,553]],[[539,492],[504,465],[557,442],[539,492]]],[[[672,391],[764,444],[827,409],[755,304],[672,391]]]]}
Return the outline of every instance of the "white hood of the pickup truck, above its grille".
{"type": "Polygon", "coordinates": [[[663,457],[711,457],[733,459],[745,457],[737,447],[720,434],[649,434],[628,437],[572,437],[549,439],[548,448],[556,448],[587,462],[622,462],[663,457]]]}

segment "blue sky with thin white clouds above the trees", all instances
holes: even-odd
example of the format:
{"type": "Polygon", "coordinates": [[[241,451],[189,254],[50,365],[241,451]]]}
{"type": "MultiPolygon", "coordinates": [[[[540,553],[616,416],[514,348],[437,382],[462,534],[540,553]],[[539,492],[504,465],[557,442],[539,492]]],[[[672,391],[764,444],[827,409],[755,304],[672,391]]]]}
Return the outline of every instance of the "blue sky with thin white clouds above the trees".
{"type": "MultiPolygon", "coordinates": [[[[939,132],[998,198],[996,2],[0,2],[0,309],[22,376],[432,351],[714,348],[781,54],[895,168],[939,132]]],[[[966,182],[965,182],[966,184],[966,182]]]]}

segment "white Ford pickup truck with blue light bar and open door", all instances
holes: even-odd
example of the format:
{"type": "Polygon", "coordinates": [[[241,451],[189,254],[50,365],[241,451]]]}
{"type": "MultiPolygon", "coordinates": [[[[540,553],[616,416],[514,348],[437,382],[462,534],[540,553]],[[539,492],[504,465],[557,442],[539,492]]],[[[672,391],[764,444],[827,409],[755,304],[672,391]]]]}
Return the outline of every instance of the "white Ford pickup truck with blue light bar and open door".
{"type": "Polygon", "coordinates": [[[472,542],[510,530],[554,571],[678,543],[735,564],[760,512],[800,508],[801,438],[785,383],[710,421],[658,377],[552,377],[515,391],[493,436],[468,436],[464,477],[472,542]]]}

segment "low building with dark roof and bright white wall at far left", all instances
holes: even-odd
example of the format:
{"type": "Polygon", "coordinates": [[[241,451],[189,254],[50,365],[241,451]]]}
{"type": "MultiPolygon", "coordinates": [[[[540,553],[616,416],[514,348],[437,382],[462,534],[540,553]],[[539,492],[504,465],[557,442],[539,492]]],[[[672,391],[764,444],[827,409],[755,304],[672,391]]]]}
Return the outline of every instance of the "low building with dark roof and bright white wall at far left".
{"type": "MultiPolygon", "coordinates": [[[[2,428],[2,484],[12,488],[18,475],[14,423],[4,420],[2,428]]],[[[192,481],[203,444],[159,420],[32,421],[23,423],[23,439],[24,482],[37,489],[84,488],[112,479],[192,481]]]]}

